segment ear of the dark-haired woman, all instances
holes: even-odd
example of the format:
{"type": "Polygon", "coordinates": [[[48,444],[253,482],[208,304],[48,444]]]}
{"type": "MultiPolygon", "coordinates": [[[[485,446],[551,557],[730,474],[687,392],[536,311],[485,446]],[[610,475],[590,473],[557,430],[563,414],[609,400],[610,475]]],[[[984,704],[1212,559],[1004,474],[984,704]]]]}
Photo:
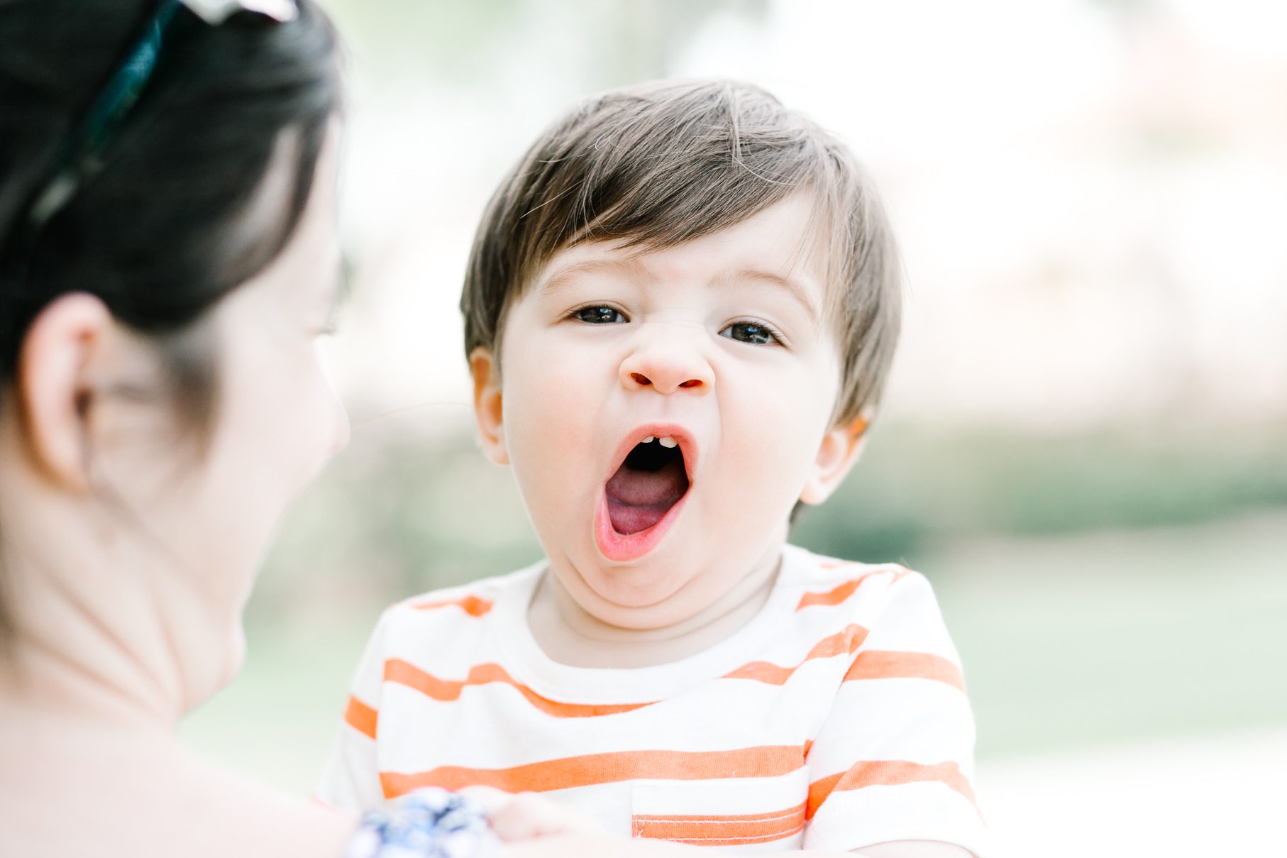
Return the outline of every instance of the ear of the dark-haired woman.
{"type": "Polygon", "coordinates": [[[99,396],[93,363],[115,326],[98,298],[63,295],[31,323],[18,354],[15,393],[28,451],[37,470],[73,491],[90,487],[89,417],[99,396]]]}

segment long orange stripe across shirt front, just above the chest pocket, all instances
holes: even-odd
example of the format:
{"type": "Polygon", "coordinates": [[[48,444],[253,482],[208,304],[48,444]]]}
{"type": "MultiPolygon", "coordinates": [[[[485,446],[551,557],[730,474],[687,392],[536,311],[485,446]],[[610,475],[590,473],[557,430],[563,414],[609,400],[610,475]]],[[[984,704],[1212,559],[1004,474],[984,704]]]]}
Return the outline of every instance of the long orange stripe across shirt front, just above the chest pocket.
{"type": "Polygon", "coordinates": [[[447,790],[490,786],[506,792],[548,792],[634,779],[768,778],[795,772],[803,763],[799,745],[768,745],[732,751],[616,751],[565,756],[508,769],[443,765],[412,774],[381,772],[380,783],[386,799],[425,786],[447,790]]]}

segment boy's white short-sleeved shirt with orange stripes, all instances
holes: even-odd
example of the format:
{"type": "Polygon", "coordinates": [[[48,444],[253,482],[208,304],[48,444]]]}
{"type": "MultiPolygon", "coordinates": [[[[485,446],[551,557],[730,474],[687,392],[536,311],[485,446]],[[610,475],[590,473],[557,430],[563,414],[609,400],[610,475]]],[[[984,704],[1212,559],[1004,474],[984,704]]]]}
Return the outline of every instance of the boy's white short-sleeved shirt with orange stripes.
{"type": "Polygon", "coordinates": [[[551,661],[544,564],[391,607],[318,797],[421,786],[548,794],[623,836],[734,852],[940,840],[976,855],[974,721],[929,582],[785,546],[764,608],[682,661],[551,661]]]}

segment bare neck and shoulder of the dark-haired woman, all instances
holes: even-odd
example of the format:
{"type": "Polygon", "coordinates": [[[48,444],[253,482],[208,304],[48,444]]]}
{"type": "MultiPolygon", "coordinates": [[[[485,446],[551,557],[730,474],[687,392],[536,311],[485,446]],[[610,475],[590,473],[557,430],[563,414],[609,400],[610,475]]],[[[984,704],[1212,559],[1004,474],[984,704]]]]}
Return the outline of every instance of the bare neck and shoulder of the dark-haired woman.
{"type": "Polygon", "coordinates": [[[179,716],[232,676],[237,594],[198,586],[122,504],[58,491],[0,414],[0,854],[338,855],[342,814],[190,754],[179,716]]]}

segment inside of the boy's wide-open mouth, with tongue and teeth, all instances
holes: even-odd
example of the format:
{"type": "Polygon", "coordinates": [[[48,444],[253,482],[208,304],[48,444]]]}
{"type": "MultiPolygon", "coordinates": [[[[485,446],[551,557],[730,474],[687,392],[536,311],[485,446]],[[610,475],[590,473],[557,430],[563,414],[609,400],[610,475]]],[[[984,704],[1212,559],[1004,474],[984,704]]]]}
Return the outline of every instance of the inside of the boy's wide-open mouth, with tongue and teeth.
{"type": "Polygon", "coordinates": [[[624,536],[646,531],[689,491],[683,453],[674,438],[647,437],[607,481],[607,518],[624,536]]]}

